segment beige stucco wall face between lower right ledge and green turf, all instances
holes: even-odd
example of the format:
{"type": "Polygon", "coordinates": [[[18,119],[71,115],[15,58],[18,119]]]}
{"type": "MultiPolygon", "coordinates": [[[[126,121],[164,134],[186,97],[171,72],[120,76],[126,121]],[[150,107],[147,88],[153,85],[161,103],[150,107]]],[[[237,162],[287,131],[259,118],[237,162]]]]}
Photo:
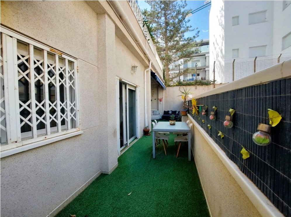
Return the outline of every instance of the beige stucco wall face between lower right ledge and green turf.
{"type": "Polygon", "coordinates": [[[192,135],[195,164],[211,215],[260,217],[256,207],[195,126],[192,127],[192,135]]]}

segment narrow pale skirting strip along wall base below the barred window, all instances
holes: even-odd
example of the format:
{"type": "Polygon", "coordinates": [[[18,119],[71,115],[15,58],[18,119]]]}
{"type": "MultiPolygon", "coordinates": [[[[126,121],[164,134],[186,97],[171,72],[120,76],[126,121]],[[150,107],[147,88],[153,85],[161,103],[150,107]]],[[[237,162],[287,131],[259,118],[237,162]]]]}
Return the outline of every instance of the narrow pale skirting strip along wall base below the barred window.
{"type": "Polygon", "coordinates": [[[91,179],[86,181],[85,184],[83,184],[80,188],[78,188],[74,193],[72,193],[64,202],[62,202],[56,209],[54,209],[50,214],[48,214],[46,217],[53,217],[58,212],[60,212],[63,208],[65,208],[72,200],[74,200],[85,188],[87,188],[98,176],[100,176],[101,170],[97,172],[91,179]]]}

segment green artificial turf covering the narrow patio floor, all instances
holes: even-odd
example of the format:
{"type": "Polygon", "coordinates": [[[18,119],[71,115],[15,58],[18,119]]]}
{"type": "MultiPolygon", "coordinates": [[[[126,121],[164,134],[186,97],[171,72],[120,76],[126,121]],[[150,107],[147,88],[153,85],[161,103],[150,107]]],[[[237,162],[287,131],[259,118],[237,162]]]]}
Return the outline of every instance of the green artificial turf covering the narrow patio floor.
{"type": "Polygon", "coordinates": [[[208,217],[187,145],[181,146],[178,158],[172,134],[167,156],[158,145],[153,159],[152,147],[152,136],[141,137],[118,158],[118,167],[110,175],[101,174],[57,216],[208,217]]]}

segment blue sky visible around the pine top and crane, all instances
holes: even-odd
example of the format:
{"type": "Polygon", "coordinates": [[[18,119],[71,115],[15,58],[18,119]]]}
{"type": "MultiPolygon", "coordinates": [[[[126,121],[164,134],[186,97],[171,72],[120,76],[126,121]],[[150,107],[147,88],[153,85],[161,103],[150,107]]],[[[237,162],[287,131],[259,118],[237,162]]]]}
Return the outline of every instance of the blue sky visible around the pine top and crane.
{"type": "MultiPolygon", "coordinates": [[[[187,8],[195,10],[201,6],[204,5],[205,1],[186,1],[187,8]]],[[[138,6],[141,9],[147,8],[150,9],[150,6],[145,1],[138,0],[138,6]]],[[[188,22],[188,25],[191,25],[192,27],[198,27],[197,30],[200,30],[198,39],[209,39],[209,11],[210,7],[208,6],[206,8],[203,8],[202,10],[194,13],[191,17],[188,19],[190,22],[188,22]]],[[[196,30],[196,31],[197,31],[196,30]]],[[[193,36],[196,31],[189,32],[185,34],[185,37],[193,36]]]]}

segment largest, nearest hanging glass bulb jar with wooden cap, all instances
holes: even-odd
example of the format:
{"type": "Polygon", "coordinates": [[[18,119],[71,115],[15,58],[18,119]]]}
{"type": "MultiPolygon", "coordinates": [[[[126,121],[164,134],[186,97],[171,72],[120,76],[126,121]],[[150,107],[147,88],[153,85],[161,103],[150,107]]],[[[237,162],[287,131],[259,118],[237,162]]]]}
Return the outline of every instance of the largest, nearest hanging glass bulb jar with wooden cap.
{"type": "Polygon", "coordinates": [[[252,139],[254,143],[260,146],[266,146],[271,143],[271,126],[267,124],[259,124],[257,132],[253,134],[252,139]]]}

